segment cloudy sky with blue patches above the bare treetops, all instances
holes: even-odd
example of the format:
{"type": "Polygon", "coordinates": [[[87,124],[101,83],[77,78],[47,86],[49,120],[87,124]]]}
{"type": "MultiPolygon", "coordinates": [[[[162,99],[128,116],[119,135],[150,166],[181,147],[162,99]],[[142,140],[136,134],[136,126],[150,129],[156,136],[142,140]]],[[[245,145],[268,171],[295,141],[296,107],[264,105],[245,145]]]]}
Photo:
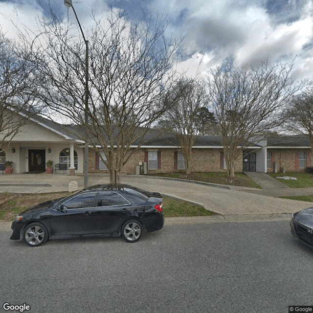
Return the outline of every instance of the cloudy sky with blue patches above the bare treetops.
{"type": "MultiPolygon", "coordinates": [[[[60,16],[75,21],[63,0],[50,0],[60,16]]],[[[91,23],[90,12],[106,16],[110,6],[125,8],[133,20],[142,10],[162,14],[170,22],[166,35],[184,37],[179,67],[191,75],[232,57],[238,64],[290,62],[296,57],[294,78],[313,76],[312,0],[77,0],[73,5],[82,25],[91,23]],[[201,63],[199,64],[201,60],[201,63]]],[[[43,8],[40,0],[0,0],[0,27],[8,37],[15,31],[9,22],[35,27],[43,8]]]]}

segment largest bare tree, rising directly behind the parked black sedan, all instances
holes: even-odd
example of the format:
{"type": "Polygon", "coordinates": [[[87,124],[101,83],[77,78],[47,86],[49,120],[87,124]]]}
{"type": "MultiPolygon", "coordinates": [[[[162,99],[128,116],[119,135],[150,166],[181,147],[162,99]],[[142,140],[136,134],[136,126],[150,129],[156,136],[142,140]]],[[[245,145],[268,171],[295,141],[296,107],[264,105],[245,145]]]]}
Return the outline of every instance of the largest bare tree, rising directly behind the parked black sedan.
{"type": "Polygon", "coordinates": [[[167,22],[159,17],[135,23],[112,10],[106,21],[94,19],[86,31],[89,104],[85,107],[85,43],[75,37],[75,27],[52,12],[51,16],[52,22],[40,20],[35,40],[22,34],[24,57],[45,75],[37,97],[77,125],[80,131],[75,135],[99,154],[110,183],[118,184],[123,166],[167,110],[161,99],[172,84],[179,41],[165,39],[167,22]]]}

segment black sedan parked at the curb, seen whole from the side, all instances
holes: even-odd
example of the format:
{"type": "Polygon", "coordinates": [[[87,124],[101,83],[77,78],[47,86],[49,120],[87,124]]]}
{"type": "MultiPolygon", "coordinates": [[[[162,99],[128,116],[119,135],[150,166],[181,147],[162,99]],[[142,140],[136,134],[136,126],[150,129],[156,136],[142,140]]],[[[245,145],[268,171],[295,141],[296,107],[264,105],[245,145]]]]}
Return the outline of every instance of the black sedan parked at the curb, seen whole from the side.
{"type": "Polygon", "coordinates": [[[48,239],[123,236],[130,243],[164,224],[162,196],[129,185],[96,185],[20,213],[10,239],[40,246],[48,239]]]}

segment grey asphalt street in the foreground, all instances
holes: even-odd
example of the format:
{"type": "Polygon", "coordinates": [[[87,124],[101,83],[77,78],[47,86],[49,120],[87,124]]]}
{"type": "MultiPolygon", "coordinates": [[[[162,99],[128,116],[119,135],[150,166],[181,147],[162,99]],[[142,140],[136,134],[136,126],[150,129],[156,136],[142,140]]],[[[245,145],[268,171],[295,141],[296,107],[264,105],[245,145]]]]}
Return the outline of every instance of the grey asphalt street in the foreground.
{"type": "Polygon", "coordinates": [[[288,221],[167,223],[134,244],[97,238],[32,248],[10,234],[1,228],[2,304],[26,303],[31,313],[287,313],[313,305],[313,250],[292,238],[288,221]]]}

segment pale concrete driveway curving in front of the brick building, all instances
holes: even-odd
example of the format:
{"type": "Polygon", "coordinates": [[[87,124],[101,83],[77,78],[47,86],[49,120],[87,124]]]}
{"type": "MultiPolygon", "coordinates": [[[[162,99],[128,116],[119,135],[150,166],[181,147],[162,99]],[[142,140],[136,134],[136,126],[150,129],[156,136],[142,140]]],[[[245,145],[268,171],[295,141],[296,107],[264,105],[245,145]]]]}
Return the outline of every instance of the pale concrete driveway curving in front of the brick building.
{"type": "MultiPolygon", "coordinates": [[[[63,174],[45,173],[1,175],[0,192],[48,193],[68,191],[68,182],[72,179],[78,181],[80,189],[83,188],[83,176],[70,177],[63,174]]],[[[89,185],[108,182],[108,175],[89,175],[89,185]]],[[[201,184],[180,179],[134,175],[122,176],[122,183],[198,203],[224,217],[250,216],[249,219],[256,219],[256,216],[259,218],[262,216],[274,217],[277,214],[292,213],[313,206],[312,202],[269,197],[262,194],[266,190],[256,188],[201,184]]],[[[286,192],[288,191],[287,195],[291,195],[290,192],[293,188],[285,189],[286,192]]]]}

